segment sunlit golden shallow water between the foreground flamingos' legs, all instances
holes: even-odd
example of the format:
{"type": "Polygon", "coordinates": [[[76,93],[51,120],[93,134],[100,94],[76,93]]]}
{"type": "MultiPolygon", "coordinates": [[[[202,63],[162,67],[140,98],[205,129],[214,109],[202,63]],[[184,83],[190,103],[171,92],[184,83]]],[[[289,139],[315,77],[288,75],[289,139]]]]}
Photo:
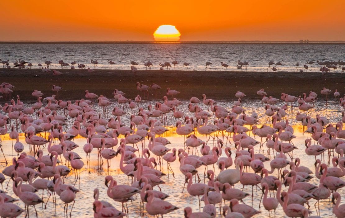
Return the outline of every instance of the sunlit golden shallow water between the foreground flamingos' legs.
{"type": "MultiPolygon", "coordinates": [[[[144,102],[143,104],[145,105],[144,108],[147,108],[148,104],[153,104],[154,102],[144,102]]],[[[232,102],[221,102],[219,103],[222,106],[225,106],[229,109],[231,109],[231,105],[232,102]]],[[[188,112],[188,108],[187,108],[187,102],[183,102],[183,105],[180,106],[180,110],[185,112],[185,115],[192,115],[191,113],[188,112]]],[[[278,104],[279,106],[282,105],[282,103],[278,104]]],[[[309,112],[308,115],[315,117],[316,114],[320,114],[321,116],[327,116],[332,123],[336,123],[339,120],[341,120],[341,111],[342,108],[340,106],[338,106],[336,101],[331,101],[328,102],[328,105],[326,107],[325,102],[318,102],[317,104],[317,108],[315,108],[314,110],[312,110],[311,112],[309,112]]],[[[29,105],[27,105],[29,106],[29,105]]],[[[114,105],[112,105],[114,106],[114,105]]],[[[97,111],[99,111],[100,113],[102,112],[102,108],[99,108],[98,106],[94,106],[96,108],[97,111]]],[[[204,105],[202,106],[204,109],[207,110],[207,107],[205,107],[204,105]]],[[[243,103],[243,107],[246,108],[246,114],[250,115],[253,111],[255,111],[256,113],[259,114],[259,120],[260,120],[260,124],[264,124],[266,123],[266,116],[264,115],[264,107],[263,105],[259,102],[259,101],[251,101],[251,102],[244,102],[243,103]]],[[[294,107],[294,111],[290,112],[290,108],[288,111],[288,115],[286,118],[289,119],[289,122],[291,125],[293,125],[294,130],[295,130],[295,135],[297,136],[296,139],[294,139],[292,142],[295,144],[295,146],[298,147],[298,150],[295,150],[293,153],[294,157],[299,157],[301,159],[301,165],[304,165],[306,167],[309,167],[313,172],[315,171],[315,167],[314,167],[314,162],[315,159],[313,156],[307,156],[305,154],[305,146],[304,146],[304,140],[308,137],[308,134],[302,134],[302,126],[299,124],[299,122],[295,121],[295,114],[296,112],[299,112],[298,107],[294,107]]],[[[130,111],[129,111],[129,115],[130,115],[130,111]]],[[[124,121],[126,124],[128,124],[128,117],[129,115],[126,115],[124,117],[122,117],[122,121],[124,121]]],[[[111,114],[110,114],[111,116],[111,114]]],[[[110,117],[109,116],[109,117],[110,117]]],[[[210,118],[210,120],[212,120],[212,117],[210,118]]],[[[12,121],[13,122],[13,121],[12,121]]],[[[172,119],[170,121],[170,117],[168,115],[168,124],[171,125],[171,129],[170,131],[168,131],[167,133],[165,133],[163,136],[165,136],[170,142],[171,144],[168,144],[167,147],[168,148],[184,148],[184,138],[181,136],[178,136],[175,132],[175,128],[173,127],[174,123],[176,123],[176,119],[172,119]]],[[[209,121],[210,122],[210,121],[209,121]]],[[[70,127],[70,125],[69,125],[70,127]]],[[[248,126],[249,127],[249,126],[248,126]]],[[[252,134],[251,134],[252,135],[252,134]]],[[[200,137],[203,140],[206,140],[205,137],[201,136],[201,135],[197,135],[198,137],[200,137]]],[[[310,135],[309,135],[310,137],[310,135]]],[[[21,142],[24,144],[25,149],[24,151],[27,153],[29,152],[29,146],[26,145],[25,141],[24,141],[24,136],[21,136],[20,138],[21,142]]],[[[75,149],[74,151],[79,153],[80,156],[83,158],[83,161],[86,164],[86,156],[85,153],[82,150],[83,145],[86,143],[86,139],[85,138],[76,138],[74,139],[74,142],[77,143],[79,145],[79,148],[75,149]]],[[[234,148],[234,143],[231,140],[230,141],[232,143],[229,144],[229,142],[227,142],[226,146],[230,146],[231,147],[231,151],[235,151],[234,148]]],[[[147,140],[146,140],[146,145],[147,145],[147,140]]],[[[209,145],[212,145],[212,142],[209,142],[209,145]]],[[[5,140],[2,141],[2,149],[4,150],[4,154],[6,156],[7,161],[9,161],[11,158],[16,157],[16,155],[12,156],[11,155],[11,141],[8,140],[8,135],[5,136],[5,140]]],[[[118,146],[115,147],[115,150],[118,148],[118,146]]],[[[264,145],[265,148],[265,152],[262,152],[263,154],[267,155],[266,153],[266,146],[264,145]]],[[[43,151],[45,152],[45,154],[47,154],[47,150],[43,149],[43,151]]],[[[255,152],[258,152],[258,146],[255,146],[255,152]]],[[[30,153],[32,154],[32,153],[30,153]]],[[[224,156],[224,150],[223,150],[223,155],[224,156]]],[[[273,158],[272,152],[271,155],[267,155],[268,157],[270,157],[271,159],[273,158]]],[[[234,158],[234,154],[232,155],[232,157],[234,158]]],[[[81,180],[80,180],[80,192],[77,193],[77,197],[76,197],[76,203],[75,203],[75,208],[73,208],[73,212],[72,212],[72,217],[92,217],[93,216],[93,210],[92,210],[92,202],[93,202],[93,189],[94,188],[98,188],[100,190],[100,200],[107,200],[108,202],[112,203],[112,205],[114,205],[117,209],[121,209],[121,204],[118,202],[113,201],[112,199],[110,199],[107,196],[107,187],[104,184],[104,178],[105,176],[108,175],[108,173],[113,176],[118,184],[130,184],[131,181],[127,178],[127,176],[125,176],[119,169],[119,160],[120,160],[120,156],[114,158],[111,160],[111,170],[110,172],[108,172],[107,170],[97,170],[97,152],[94,149],[92,154],[91,154],[91,173],[89,174],[86,167],[85,169],[82,170],[81,172],[81,180]]],[[[4,159],[3,157],[0,158],[0,162],[2,163],[0,166],[0,170],[4,169],[6,167],[6,165],[4,164],[4,159]]],[[[106,163],[103,165],[103,167],[106,168],[106,163]]],[[[164,173],[168,173],[166,170],[166,163],[163,163],[162,166],[162,171],[164,173]]],[[[196,212],[199,210],[199,203],[198,203],[198,198],[197,197],[192,197],[188,194],[186,188],[185,191],[182,193],[182,189],[183,189],[183,184],[184,184],[184,176],[179,172],[179,162],[175,161],[174,163],[171,163],[171,167],[173,169],[173,171],[175,172],[175,178],[171,177],[171,174],[169,175],[169,179],[167,176],[162,177],[162,179],[166,182],[165,184],[160,185],[161,189],[163,192],[167,193],[168,195],[170,195],[169,198],[166,199],[166,201],[169,201],[170,203],[172,203],[173,205],[176,205],[177,207],[179,207],[179,210],[173,211],[170,214],[166,215],[165,217],[183,217],[183,208],[186,206],[190,206],[193,208],[193,211],[196,212]]],[[[269,166],[269,161],[265,162],[265,167],[270,169],[269,166]]],[[[234,168],[234,165],[230,167],[231,169],[234,168]]],[[[211,169],[211,166],[208,168],[211,169]]],[[[204,172],[204,168],[200,167],[198,168],[199,171],[199,175],[200,178],[203,182],[203,172],[204,172]]],[[[248,172],[252,172],[251,169],[248,169],[248,172]]],[[[216,174],[219,173],[219,170],[216,169],[216,174]]],[[[273,173],[273,175],[278,176],[277,171],[275,171],[273,173]]],[[[314,175],[314,174],[313,174],[314,175]]],[[[208,181],[208,179],[206,178],[205,180],[206,182],[208,181]]],[[[75,177],[74,175],[71,173],[69,174],[69,176],[65,179],[65,182],[68,184],[73,184],[75,182],[75,177]]],[[[311,183],[318,185],[319,180],[317,178],[313,178],[311,181],[311,183]]],[[[194,183],[194,181],[193,181],[194,183]]],[[[6,186],[7,181],[3,183],[4,186],[6,186]]],[[[13,193],[12,193],[12,181],[9,183],[9,188],[8,188],[8,194],[11,195],[12,197],[14,197],[13,193]]],[[[77,182],[76,187],[79,188],[79,183],[77,182]]],[[[241,184],[237,184],[235,186],[236,188],[242,188],[241,184]]],[[[5,188],[5,187],[4,187],[5,188]]],[[[287,190],[288,187],[284,187],[283,186],[283,190],[287,190]]],[[[158,190],[157,187],[154,188],[155,190],[158,190]]],[[[251,187],[245,187],[244,190],[247,193],[251,193],[252,188],[251,187]]],[[[338,190],[338,192],[344,196],[345,195],[345,189],[342,188],[341,190],[338,190]]],[[[261,190],[256,189],[254,187],[254,208],[255,209],[260,209],[258,208],[258,203],[259,203],[259,199],[261,196],[261,190]]],[[[41,196],[42,192],[39,191],[38,195],[41,196]]],[[[16,197],[18,199],[18,197],[16,197]]],[[[137,198],[140,199],[140,196],[137,195],[137,198]]],[[[47,196],[45,196],[45,201],[47,199],[47,196]]],[[[129,217],[139,217],[140,216],[140,200],[136,199],[133,202],[128,202],[128,209],[129,209],[129,217]]],[[[244,202],[248,205],[252,204],[251,198],[247,197],[244,199],[244,202]]],[[[316,201],[315,200],[309,200],[309,205],[311,205],[310,209],[313,211],[313,215],[316,215],[316,210],[314,208],[314,203],[316,201]]],[[[344,202],[344,201],[343,201],[344,202]]],[[[228,203],[228,201],[227,201],[228,203]]],[[[24,208],[23,203],[16,202],[16,204],[20,205],[20,207],[24,208]]],[[[39,213],[39,217],[62,217],[63,216],[63,203],[62,201],[57,198],[57,206],[56,206],[56,212],[53,211],[53,207],[52,207],[52,202],[51,200],[49,201],[48,205],[47,205],[47,209],[42,209],[39,205],[37,205],[37,211],[39,213]]],[[[224,205],[224,203],[223,203],[224,205]]],[[[222,206],[223,206],[222,205],[222,206]]],[[[201,202],[201,210],[204,206],[204,203],[201,202]]],[[[216,208],[218,207],[218,212],[219,212],[219,205],[216,206],[216,208]]],[[[334,215],[332,214],[332,202],[329,202],[327,199],[326,200],[321,200],[320,201],[320,216],[321,217],[334,217],[334,215]]],[[[70,209],[70,206],[69,206],[70,209]]],[[[30,208],[30,215],[31,217],[34,216],[34,210],[33,208],[30,208]]],[[[272,213],[271,213],[272,215],[272,213]]],[[[23,217],[23,216],[21,216],[23,217]]],[[[144,217],[151,217],[147,214],[146,210],[145,210],[145,215],[144,217]]],[[[217,217],[221,217],[219,214],[217,217]]],[[[268,212],[263,208],[263,206],[261,206],[261,214],[255,216],[255,217],[268,217],[268,212]]],[[[276,210],[276,217],[284,217],[284,212],[282,210],[281,206],[278,206],[277,210],[276,210]]]]}

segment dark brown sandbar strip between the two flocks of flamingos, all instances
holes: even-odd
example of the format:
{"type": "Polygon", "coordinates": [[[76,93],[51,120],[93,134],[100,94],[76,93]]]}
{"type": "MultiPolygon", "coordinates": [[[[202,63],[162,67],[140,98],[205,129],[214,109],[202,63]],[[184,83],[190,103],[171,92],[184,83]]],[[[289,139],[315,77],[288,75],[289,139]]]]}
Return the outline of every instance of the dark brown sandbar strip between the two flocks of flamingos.
{"type": "MultiPolygon", "coordinates": [[[[136,89],[136,82],[145,85],[156,83],[162,88],[158,90],[160,99],[166,93],[166,88],[180,92],[176,97],[189,99],[196,96],[201,99],[202,94],[213,99],[235,99],[236,91],[244,92],[248,98],[258,98],[256,92],[264,88],[268,95],[279,98],[282,92],[299,96],[304,92],[314,91],[321,96],[323,87],[344,94],[345,75],[327,73],[322,76],[317,73],[296,72],[222,72],[222,71],[174,71],[174,70],[139,70],[134,75],[131,70],[95,70],[89,73],[86,69],[58,69],[61,76],[42,73],[41,69],[0,69],[0,81],[16,86],[12,98],[19,95],[22,101],[36,101],[31,93],[37,89],[45,96],[54,94],[52,85],[63,88],[59,93],[60,99],[80,99],[85,97],[84,91],[112,98],[112,92],[117,88],[126,93],[127,98],[143,95],[136,89]]],[[[150,99],[155,98],[153,90],[150,99]]],[[[333,95],[331,96],[333,97],[333,95]]],[[[1,102],[8,100],[2,98],[1,102]]]]}

